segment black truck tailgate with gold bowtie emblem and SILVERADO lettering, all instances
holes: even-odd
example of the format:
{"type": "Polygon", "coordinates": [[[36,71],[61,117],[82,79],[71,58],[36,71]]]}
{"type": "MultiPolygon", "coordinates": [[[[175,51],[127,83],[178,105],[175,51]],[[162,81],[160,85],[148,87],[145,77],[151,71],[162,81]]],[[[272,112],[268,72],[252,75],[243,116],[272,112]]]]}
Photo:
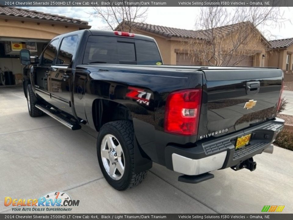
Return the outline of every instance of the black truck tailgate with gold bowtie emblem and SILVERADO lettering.
{"type": "Polygon", "coordinates": [[[276,116],[280,69],[203,70],[198,139],[219,137],[276,116]]]}

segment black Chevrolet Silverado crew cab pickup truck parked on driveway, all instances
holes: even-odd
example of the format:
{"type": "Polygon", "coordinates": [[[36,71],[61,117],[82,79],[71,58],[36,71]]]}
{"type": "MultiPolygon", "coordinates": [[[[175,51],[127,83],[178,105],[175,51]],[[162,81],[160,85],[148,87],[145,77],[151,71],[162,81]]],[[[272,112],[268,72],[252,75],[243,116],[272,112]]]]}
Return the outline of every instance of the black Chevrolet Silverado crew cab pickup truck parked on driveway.
{"type": "Polygon", "coordinates": [[[188,183],[253,171],[252,157],[272,153],[284,127],[278,68],[162,65],[153,38],[93,30],[55,37],[39,57],[21,50],[20,60],[30,116],[98,131],[100,168],[118,190],[142,182],[152,162],[188,183]]]}

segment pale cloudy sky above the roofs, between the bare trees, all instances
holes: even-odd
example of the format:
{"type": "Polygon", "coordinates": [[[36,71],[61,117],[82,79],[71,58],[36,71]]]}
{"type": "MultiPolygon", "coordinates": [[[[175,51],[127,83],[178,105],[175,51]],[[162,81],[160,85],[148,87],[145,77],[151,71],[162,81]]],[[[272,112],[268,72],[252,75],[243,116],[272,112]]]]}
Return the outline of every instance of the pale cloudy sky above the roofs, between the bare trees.
{"type": "MultiPolygon", "coordinates": [[[[105,24],[101,20],[90,15],[93,12],[92,7],[23,8],[85,20],[92,29],[105,29],[105,24]]],[[[149,7],[145,23],[194,30],[198,9],[199,7],[149,7]]],[[[281,11],[287,21],[278,27],[265,26],[260,30],[268,40],[293,37],[293,7],[281,7],[281,11]]]]}

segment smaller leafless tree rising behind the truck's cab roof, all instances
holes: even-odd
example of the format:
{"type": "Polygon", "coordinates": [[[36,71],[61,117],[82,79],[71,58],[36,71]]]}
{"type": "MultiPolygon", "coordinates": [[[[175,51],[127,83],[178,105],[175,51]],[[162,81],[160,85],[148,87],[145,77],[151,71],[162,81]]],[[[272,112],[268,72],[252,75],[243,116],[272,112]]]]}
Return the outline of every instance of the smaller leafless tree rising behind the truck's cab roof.
{"type": "Polygon", "coordinates": [[[93,7],[95,12],[90,13],[106,23],[107,29],[131,32],[135,29],[136,22],[143,22],[147,18],[148,7],[133,6],[133,3],[139,2],[138,0],[132,2],[124,0],[119,2],[119,6],[112,0],[108,2],[109,6],[93,7]]]}

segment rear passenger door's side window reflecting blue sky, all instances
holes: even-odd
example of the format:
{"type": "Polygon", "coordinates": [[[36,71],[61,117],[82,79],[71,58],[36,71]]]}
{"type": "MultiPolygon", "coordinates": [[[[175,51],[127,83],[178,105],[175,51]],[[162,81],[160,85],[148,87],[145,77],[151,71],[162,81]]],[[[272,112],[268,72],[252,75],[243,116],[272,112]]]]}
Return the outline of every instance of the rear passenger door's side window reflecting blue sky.
{"type": "Polygon", "coordinates": [[[68,66],[74,54],[74,50],[77,47],[78,36],[68,36],[63,38],[60,46],[60,50],[58,53],[58,57],[56,60],[56,65],[64,65],[68,66]]]}

